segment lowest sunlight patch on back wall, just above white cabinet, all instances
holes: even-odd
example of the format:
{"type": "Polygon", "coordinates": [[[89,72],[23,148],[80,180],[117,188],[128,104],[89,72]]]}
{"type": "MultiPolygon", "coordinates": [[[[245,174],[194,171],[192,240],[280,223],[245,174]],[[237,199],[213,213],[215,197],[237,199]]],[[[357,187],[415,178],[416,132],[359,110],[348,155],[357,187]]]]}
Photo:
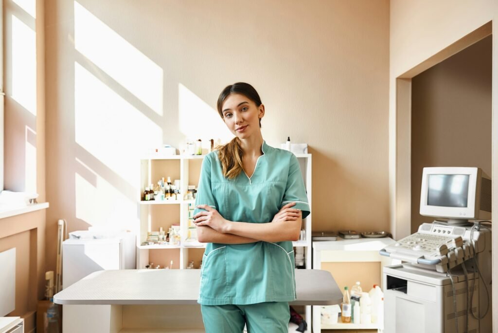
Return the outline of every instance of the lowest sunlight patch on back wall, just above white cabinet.
{"type": "Polygon", "coordinates": [[[89,174],[95,175],[95,184],[92,184],[75,172],[76,218],[92,226],[126,229],[136,225],[136,202],[128,199],[80,160],[76,159],[76,163],[87,169],[89,174]]]}

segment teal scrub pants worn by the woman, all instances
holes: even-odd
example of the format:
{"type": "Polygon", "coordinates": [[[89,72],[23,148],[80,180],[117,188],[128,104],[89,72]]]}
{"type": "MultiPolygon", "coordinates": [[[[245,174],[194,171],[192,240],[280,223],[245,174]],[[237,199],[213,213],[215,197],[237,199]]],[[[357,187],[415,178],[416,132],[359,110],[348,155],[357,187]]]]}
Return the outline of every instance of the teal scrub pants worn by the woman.
{"type": "Polygon", "coordinates": [[[288,302],[265,302],[248,305],[201,305],[206,333],[289,332],[288,302]]]}

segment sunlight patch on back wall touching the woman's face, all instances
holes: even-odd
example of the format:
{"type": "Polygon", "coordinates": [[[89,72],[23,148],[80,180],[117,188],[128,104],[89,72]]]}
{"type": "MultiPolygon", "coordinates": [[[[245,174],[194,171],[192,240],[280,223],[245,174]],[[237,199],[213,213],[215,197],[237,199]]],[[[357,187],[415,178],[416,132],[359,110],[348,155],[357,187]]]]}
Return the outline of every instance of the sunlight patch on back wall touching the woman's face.
{"type": "Polygon", "coordinates": [[[218,111],[210,107],[183,84],[178,84],[178,120],[180,131],[187,139],[221,139],[226,143],[234,137],[218,111]]]}

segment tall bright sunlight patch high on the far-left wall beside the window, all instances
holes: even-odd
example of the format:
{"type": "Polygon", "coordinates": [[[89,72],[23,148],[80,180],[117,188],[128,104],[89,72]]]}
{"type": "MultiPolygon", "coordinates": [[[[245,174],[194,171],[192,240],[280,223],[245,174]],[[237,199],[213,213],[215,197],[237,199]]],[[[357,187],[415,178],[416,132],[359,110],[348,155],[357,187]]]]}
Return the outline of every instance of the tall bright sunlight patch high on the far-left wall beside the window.
{"type": "Polygon", "coordinates": [[[36,33],[12,15],[12,97],[36,116],[36,33]]]}

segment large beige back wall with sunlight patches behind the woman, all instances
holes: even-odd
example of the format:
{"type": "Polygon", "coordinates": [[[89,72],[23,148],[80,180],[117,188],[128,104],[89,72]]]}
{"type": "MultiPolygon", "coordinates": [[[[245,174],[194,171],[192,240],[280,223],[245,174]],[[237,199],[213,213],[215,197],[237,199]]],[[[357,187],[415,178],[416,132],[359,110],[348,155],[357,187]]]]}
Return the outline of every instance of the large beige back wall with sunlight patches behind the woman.
{"type": "Polygon", "coordinates": [[[216,99],[236,81],[258,90],[270,145],[309,144],[314,230],[388,228],[387,0],[45,9],[47,228],[133,224],[139,153],[226,138],[216,99]]]}

